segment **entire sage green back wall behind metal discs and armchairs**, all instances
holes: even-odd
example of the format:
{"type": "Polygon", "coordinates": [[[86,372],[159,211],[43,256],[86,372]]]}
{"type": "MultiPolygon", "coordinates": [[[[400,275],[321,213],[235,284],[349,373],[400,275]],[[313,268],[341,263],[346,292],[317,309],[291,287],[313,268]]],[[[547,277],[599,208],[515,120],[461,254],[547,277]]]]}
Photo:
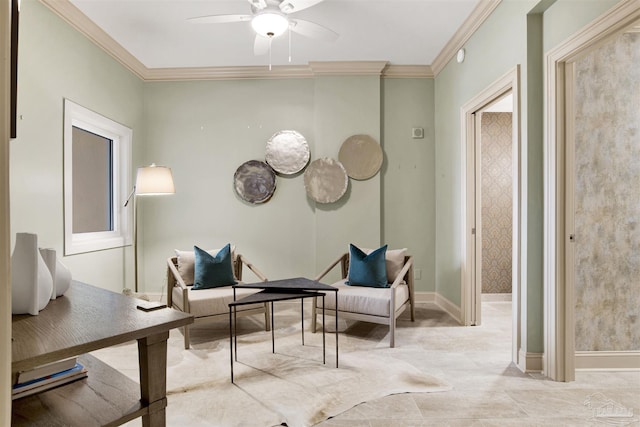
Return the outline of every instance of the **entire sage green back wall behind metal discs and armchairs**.
{"type": "Polygon", "coordinates": [[[142,163],[170,166],[176,182],[173,196],[139,199],[141,283],[147,291],[164,285],[173,249],[193,244],[232,242],[269,278],[312,277],[351,242],[383,243],[382,217],[390,229],[384,243],[409,248],[427,276],[427,286],[418,282],[418,289],[433,290],[433,80],[319,76],[149,83],[144,98],[148,144],[142,163]],[[411,140],[412,126],[424,127],[425,139],[411,140]],[[307,138],[311,161],[337,158],[346,138],[369,134],[382,140],[383,170],[365,181],[350,180],[334,204],[308,198],[302,174],[279,176],[265,204],[243,202],[233,190],[233,173],[247,160],[264,159],[267,139],[282,129],[307,138]]]}

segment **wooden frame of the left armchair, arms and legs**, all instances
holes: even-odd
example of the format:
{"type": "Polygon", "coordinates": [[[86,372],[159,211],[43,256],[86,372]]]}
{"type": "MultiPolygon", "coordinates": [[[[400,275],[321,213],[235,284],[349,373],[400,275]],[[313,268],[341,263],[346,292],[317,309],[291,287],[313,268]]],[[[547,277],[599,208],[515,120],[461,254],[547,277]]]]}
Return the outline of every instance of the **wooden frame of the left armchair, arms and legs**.
{"type": "MultiPolygon", "coordinates": [[[[233,258],[233,273],[238,281],[242,280],[242,270],[243,266],[246,266],[253,274],[260,279],[262,282],[266,282],[267,277],[260,271],[258,268],[253,265],[246,257],[241,254],[235,254],[233,258]]],[[[167,306],[173,308],[174,310],[182,311],[184,313],[190,313],[189,307],[189,293],[191,291],[191,286],[187,286],[180,276],[178,272],[178,257],[171,257],[167,259],[167,306]],[[180,287],[182,289],[182,309],[173,303],[173,288],[180,287]]],[[[244,310],[238,310],[237,316],[249,316],[252,314],[260,314],[264,313],[264,323],[265,323],[265,331],[271,330],[271,319],[269,317],[269,303],[264,303],[260,308],[249,308],[244,310]]],[[[212,314],[209,316],[200,316],[194,318],[194,324],[196,323],[204,323],[210,322],[214,320],[225,320],[229,321],[229,312],[212,314]]],[[[184,333],[184,348],[189,349],[190,347],[190,338],[189,338],[189,326],[185,325],[183,327],[184,333]]]]}

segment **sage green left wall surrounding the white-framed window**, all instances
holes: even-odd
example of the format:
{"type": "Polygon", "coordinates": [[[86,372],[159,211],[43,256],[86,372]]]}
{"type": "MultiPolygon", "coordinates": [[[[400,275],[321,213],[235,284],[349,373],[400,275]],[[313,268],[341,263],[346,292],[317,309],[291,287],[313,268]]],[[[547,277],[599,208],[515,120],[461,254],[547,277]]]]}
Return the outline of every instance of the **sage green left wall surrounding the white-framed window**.
{"type": "MultiPolygon", "coordinates": [[[[38,234],[64,247],[63,104],[68,98],[133,129],[134,158],[144,141],[142,82],[37,0],[20,12],[18,138],[11,142],[11,234],[38,234]]],[[[132,278],[131,248],[64,257],[75,279],[121,291],[132,278]]]]}

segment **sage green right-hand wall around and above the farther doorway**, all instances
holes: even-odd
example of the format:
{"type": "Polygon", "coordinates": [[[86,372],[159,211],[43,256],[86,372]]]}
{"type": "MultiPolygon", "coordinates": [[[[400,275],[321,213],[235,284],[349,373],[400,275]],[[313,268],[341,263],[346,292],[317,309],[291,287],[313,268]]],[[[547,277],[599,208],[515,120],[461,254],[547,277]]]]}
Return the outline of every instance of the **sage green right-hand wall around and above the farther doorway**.
{"type": "MultiPolygon", "coordinates": [[[[464,62],[450,61],[435,79],[436,289],[456,305],[461,301],[461,268],[465,263],[461,107],[516,65],[526,64],[527,13],[535,3],[503,0],[466,43],[464,62]]],[[[521,68],[521,74],[526,81],[526,68],[521,68]]],[[[524,90],[521,114],[527,114],[524,90]]],[[[523,120],[524,146],[526,130],[523,120]]]]}

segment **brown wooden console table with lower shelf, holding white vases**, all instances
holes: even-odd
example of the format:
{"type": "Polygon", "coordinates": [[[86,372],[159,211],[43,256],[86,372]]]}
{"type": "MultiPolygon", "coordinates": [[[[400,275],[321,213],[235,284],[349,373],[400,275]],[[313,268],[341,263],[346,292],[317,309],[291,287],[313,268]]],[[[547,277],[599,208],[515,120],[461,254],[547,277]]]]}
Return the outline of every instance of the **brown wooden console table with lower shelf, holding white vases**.
{"type": "MultiPolygon", "coordinates": [[[[12,319],[11,375],[80,356],[88,377],[13,401],[14,426],[117,426],[142,417],[164,426],[169,330],[193,323],[191,315],[136,308],[140,300],[74,281],[38,316],[12,319]],[[138,341],[140,384],[86,353],[138,341]]],[[[135,357],[132,355],[132,357],[135,357]]]]}

